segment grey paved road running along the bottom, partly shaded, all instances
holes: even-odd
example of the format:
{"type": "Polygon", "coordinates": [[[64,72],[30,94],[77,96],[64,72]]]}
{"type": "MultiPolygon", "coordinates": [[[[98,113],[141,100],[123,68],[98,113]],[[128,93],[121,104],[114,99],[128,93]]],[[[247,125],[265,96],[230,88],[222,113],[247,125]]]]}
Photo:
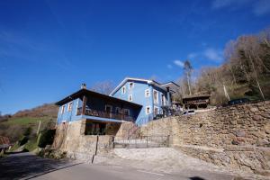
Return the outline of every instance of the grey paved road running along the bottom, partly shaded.
{"type": "Polygon", "coordinates": [[[231,180],[231,175],[203,173],[194,170],[177,174],[146,171],[129,166],[75,164],[36,157],[30,153],[0,159],[0,179],[65,179],[65,180],[231,180]]]}

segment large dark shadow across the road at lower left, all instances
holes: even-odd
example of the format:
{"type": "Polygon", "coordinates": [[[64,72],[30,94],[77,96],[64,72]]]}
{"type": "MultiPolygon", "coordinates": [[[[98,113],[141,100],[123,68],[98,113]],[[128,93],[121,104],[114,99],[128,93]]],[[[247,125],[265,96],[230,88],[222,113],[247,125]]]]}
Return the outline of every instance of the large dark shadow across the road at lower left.
{"type": "Polygon", "coordinates": [[[37,157],[30,153],[18,153],[0,159],[0,179],[29,179],[68,166],[76,166],[67,160],[37,157]]]}

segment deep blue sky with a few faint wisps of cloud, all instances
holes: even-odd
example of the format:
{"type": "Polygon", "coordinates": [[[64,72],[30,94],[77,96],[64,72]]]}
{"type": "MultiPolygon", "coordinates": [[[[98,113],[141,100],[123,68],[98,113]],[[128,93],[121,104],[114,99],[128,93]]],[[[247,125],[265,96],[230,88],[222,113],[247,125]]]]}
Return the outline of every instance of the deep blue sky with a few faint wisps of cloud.
{"type": "Polygon", "coordinates": [[[239,35],[269,27],[268,0],[0,1],[0,111],[56,102],[125,76],[175,80],[219,66],[239,35]]]}

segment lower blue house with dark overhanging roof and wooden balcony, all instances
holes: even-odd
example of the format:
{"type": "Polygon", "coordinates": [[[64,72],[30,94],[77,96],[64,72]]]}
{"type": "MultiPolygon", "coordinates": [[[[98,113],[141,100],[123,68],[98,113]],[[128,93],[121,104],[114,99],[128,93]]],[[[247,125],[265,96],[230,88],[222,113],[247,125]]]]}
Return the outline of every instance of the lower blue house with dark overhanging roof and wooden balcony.
{"type": "Polygon", "coordinates": [[[87,90],[85,85],[56,104],[59,106],[58,124],[85,120],[85,135],[108,134],[112,125],[120,127],[123,121],[136,121],[142,107],[87,90]]]}

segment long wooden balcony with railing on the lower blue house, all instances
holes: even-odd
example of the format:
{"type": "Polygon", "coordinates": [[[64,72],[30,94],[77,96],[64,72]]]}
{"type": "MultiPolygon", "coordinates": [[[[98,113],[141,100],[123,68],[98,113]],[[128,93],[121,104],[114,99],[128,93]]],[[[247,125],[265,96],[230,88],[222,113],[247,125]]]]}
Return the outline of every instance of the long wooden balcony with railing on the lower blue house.
{"type": "Polygon", "coordinates": [[[135,121],[135,119],[123,113],[114,113],[114,112],[104,112],[93,109],[85,108],[85,112],[83,112],[83,108],[80,107],[77,109],[76,115],[86,115],[86,116],[94,116],[100,118],[114,119],[114,120],[123,120],[123,121],[135,121]]]}

